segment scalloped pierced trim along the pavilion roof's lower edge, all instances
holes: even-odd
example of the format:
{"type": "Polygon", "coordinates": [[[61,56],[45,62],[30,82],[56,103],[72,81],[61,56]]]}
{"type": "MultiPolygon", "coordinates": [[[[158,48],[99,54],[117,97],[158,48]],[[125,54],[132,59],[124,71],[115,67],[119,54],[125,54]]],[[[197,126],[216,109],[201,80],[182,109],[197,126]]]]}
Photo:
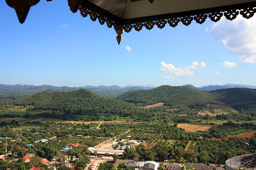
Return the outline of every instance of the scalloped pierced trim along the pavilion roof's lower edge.
{"type": "MultiPolygon", "coordinates": [[[[93,10],[90,10],[84,6],[79,7],[80,13],[83,17],[90,16],[92,21],[99,20],[100,24],[103,25],[105,22],[107,23],[108,28],[114,26],[115,30],[117,31],[118,25],[122,25],[117,23],[113,20],[106,18],[100,14],[97,14],[93,10]]],[[[168,23],[171,27],[176,27],[179,22],[183,23],[184,25],[188,26],[191,24],[193,20],[197,23],[202,24],[206,21],[207,17],[211,19],[211,21],[217,22],[221,19],[224,15],[226,19],[232,21],[234,20],[237,15],[242,15],[244,18],[249,19],[250,17],[254,16],[256,13],[256,7],[248,7],[248,8],[240,8],[234,10],[228,10],[223,12],[215,12],[215,13],[208,13],[208,14],[197,14],[194,16],[182,16],[182,17],[173,17],[169,19],[162,19],[162,20],[154,20],[154,21],[146,21],[146,22],[139,22],[139,23],[132,23],[132,24],[123,24],[123,29],[125,32],[130,32],[133,28],[136,31],[140,31],[143,27],[148,30],[151,30],[154,25],[157,25],[158,28],[163,28],[168,23]]]]}

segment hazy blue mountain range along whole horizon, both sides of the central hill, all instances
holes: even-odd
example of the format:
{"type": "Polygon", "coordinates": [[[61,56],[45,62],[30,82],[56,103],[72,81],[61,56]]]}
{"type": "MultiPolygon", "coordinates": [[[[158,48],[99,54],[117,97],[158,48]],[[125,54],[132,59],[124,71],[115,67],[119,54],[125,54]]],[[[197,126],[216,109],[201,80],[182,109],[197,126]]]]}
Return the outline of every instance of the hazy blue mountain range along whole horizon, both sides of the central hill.
{"type": "MultiPolygon", "coordinates": [[[[244,84],[224,84],[224,85],[208,85],[208,86],[202,86],[202,87],[195,87],[191,84],[186,84],[184,86],[192,87],[198,90],[217,90],[217,89],[229,89],[229,88],[250,88],[250,89],[256,89],[256,86],[249,86],[244,84]]],[[[79,90],[81,88],[88,89],[92,91],[93,93],[99,94],[104,97],[115,97],[120,94],[123,94],[127,91],[134,91],[134,90],[149,90],[156,88],[155,85],[147,84],[147,85],[129,85],[125,87],[119,87],[119,86],[80,86],[80,87],[67,87],[67,86],[51,86],[51,85],[41,85],[41,86],[34,86],[34,85],[6,85],[6,84],[0,84],[0,96],[9,96],[9,95],[33,95],[36,93],[39,93],[41,91],[52,89],[54,91],[74,91],[79,90]]]]}

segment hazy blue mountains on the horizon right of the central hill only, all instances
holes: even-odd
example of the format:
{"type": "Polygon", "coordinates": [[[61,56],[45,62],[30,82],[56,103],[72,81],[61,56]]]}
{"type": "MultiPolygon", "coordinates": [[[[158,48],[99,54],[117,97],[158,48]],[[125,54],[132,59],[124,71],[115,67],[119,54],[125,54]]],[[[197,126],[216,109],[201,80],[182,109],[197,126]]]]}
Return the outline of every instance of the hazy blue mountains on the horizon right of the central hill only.
{"type": "Polygon", "coordinates": [[[198,90],[218,90],[218,89],[229,89],[229,88],[250,88],[250,89],[256,89],[256,86],[250,86],[250,85],[244,85],[244,84],[224,84],[224,85],[213,85],[210,84],[208,86],[202,86],[202,87],[195,87],[191,84],[186,84],[184,86],[193,87],[198,90]]]}

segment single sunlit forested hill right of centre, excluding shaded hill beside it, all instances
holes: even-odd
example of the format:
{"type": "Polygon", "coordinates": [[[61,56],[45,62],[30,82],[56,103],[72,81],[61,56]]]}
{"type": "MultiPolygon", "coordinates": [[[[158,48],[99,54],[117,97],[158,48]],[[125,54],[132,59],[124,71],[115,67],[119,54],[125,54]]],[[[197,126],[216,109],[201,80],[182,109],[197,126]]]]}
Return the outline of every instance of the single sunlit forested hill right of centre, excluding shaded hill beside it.
{"type": "Polygon", "coordinates": [[[118,97],[123,101],[135,103],[136,105],[149,105],[163,102],[164,105],[173,108],[189,108],[196,105],[218,103],[213,95],[206,91],[197,90],[185,86],[160,86],[150,90],[129,91],[118,97]]]}

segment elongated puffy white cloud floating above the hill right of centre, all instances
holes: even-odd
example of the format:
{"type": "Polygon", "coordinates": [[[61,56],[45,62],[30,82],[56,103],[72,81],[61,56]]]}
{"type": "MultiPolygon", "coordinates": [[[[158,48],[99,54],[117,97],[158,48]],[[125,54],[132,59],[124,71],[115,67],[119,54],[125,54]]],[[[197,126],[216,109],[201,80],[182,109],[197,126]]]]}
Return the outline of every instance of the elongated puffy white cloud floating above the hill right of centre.
{"type": "Polygon", "coordinates": [[[175,76],[182,76],[182,77],[189,77],[189,76],[192,76],[192,75],[195,74],[193,71],[190,71],[189,67],[175,68],[172,64],[166,64],[164,61],[161,62],[161,66],[162,66],[161,70],[162,71],[167,71],[168,74],[170,74],[170,77],[173,77],[172,79],[174,79],[174,75],[175,76]]]}

